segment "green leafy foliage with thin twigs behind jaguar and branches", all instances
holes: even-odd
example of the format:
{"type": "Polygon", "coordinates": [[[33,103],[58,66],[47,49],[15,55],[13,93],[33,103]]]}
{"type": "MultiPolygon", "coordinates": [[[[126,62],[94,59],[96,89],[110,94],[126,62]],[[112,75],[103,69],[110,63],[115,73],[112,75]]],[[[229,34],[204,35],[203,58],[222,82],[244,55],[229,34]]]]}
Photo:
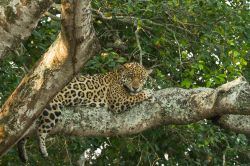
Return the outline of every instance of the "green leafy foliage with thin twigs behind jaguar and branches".
{"type": "MultiPolygon", "coordinates": [[[[102,45],[83,73],[104,73],[127,61],[154,68],[148,86],[217,87],[244,75],[250,81],[248,0],[93,0],[93,18],[102,45]],[[142,58],[141,58],[142,57],[142,58]]],[[[59,16],[56,8],[49,11],[59,16]]],[[[45,15],[32,36],[0,62],[0,104],[48,49],[60,21],[45,15]]],[[[30,165],[75,165],[80,155],[93,165],[248,165],[249,136],[225,131],[209,120],[161,126],[116,138],[53,137],[49,160],[35,139],[27,150],[30,165]],[[102,150],[101,150],[102,149],[102,150]]],[[[0,165],[20,165],[13,148],[0,165]]]]}

